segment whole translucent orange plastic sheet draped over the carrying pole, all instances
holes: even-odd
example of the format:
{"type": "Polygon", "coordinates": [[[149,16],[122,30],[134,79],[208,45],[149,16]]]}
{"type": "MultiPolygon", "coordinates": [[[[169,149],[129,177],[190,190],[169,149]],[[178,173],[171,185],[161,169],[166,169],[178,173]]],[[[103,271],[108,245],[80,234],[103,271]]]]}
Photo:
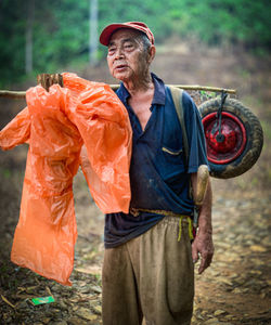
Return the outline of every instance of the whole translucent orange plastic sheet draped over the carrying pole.
{"type": "Polygon", "coordinates": [[[63,77],[65,88],[27,91],[27,107],[0,132],[0,146],[29,143],[12,261],[70,285],[77,238],[73,178],[81,164],[102,211],[127,212],[131,128],[108,86],[63,77]]]}

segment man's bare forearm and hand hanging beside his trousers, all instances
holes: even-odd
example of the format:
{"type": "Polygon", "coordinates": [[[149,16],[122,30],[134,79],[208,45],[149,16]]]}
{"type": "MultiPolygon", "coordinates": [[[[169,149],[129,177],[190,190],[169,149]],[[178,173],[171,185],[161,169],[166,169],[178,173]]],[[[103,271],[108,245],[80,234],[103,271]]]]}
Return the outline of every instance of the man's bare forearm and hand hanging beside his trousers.
{"type": "MultiPolygon", "coordinates": [[[[192,187],[193,193],[196,193],[197,185],[197,173],[192,173],[192,187]]],[[[211,185],[208,181],[206,194],[202,206],[198,211],[198,230],[196,237],[192,244],[192,258],[193,262],[196,263],[198,260],[198,253],[201,255],[201,264],[198,273],[203,273],[207,269],[214,256],[214,244],[212,244],[212,227],[211,227],[211,185]]]]}

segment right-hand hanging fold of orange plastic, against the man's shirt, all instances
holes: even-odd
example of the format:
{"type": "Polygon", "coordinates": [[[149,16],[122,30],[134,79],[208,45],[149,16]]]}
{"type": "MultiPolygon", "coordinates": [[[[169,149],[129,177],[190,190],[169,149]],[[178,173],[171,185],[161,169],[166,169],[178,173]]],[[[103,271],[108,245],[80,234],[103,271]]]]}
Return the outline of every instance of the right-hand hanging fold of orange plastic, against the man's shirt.
{"type": "Polygon", "coordinates": [[[108,84],[74,74],[63,74],[63,81],[79,102],[68,105],[66,113],[87,148],[80,162],[91,195],[104,213],[128,212],[132,135],[128,113],[108,84]]]}

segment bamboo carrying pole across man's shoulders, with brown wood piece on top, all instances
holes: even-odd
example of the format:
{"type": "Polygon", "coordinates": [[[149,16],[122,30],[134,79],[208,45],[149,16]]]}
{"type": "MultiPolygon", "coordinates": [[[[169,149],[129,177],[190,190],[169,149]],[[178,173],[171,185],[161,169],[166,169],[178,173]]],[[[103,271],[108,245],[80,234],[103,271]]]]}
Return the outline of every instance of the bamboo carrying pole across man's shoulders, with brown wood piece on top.
{"type": "MultiPolygon", "coordinates": [[[[50,86],[53,83],[59,83],[63,87],[63,78],[61,74],[40,74],[37,76],[37,81],[40,83],[43,88],[49,90],[50,86]]],[[[188,84],[170,84],[180,89],[184,90],[203,90],[203,91],[210,91],[210,92],[227,92],[227,93],[236,93],[236,90],[234,89],[223,89],[223,88],[217,88],[217,87],[205,87],[205,86],[188,86],[188,84]]],[[[113,90],[117,90],[119,88],[119,84],[109,84],[109,87],[113,90]]],[[[8,99],[14,99],[14,100],[23,100],[25,99],[25,91],[11,91],[11,90],[0,90],[0,98],[8,98],[8,99]]]]}

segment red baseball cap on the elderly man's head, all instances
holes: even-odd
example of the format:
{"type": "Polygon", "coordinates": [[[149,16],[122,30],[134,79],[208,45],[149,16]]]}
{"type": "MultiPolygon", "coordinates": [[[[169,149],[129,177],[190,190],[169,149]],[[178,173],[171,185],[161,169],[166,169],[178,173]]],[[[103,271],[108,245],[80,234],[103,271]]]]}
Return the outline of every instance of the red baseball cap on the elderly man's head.
{"type": "Polygon", "coordinates": [[[111,40],[111,36],[114,31],[116,31],[119,28],[131,28],[136,30],[140,30],[144,32],[147,38],[150,39],[151,43],[154,44],[154,36],[151,29],[146,26],[146,24],[141,22],[127,22],[127,23],[120,23],[120,24],[111,24],[106,26],[100,36],[100,43],[107,47],[111,40]]]}

